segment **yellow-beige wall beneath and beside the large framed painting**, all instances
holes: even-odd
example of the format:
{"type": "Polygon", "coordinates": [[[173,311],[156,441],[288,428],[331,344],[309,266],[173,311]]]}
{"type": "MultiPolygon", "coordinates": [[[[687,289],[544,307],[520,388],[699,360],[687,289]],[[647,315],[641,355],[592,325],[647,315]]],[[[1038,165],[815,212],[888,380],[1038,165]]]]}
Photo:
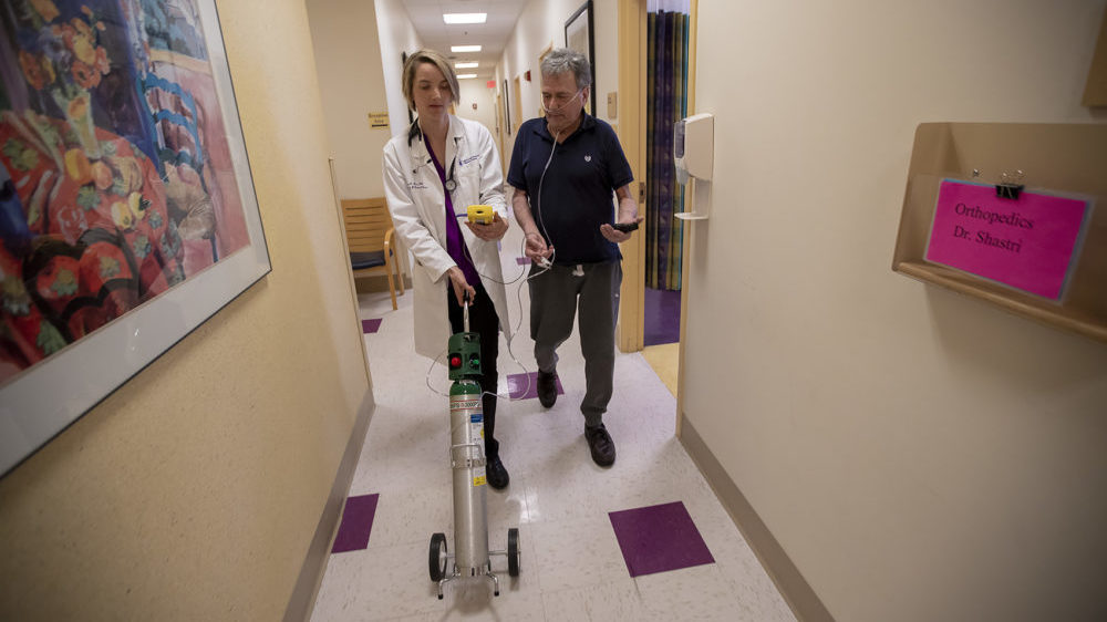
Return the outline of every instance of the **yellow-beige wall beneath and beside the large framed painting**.
{"type": "Polygon", "coordinates": [[[0,619],[280,619],[334,481],[368,376],[307,14],[219,17],[273,271],[0,480],[0,619]]]}

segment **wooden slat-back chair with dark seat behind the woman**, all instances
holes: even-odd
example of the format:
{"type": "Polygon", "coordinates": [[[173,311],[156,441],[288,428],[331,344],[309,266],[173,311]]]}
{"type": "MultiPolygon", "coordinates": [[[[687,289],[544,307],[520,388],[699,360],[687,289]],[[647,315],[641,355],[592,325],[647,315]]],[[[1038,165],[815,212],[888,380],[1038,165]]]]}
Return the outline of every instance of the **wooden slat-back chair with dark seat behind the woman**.
{"type": "Polygon", "coordinates": [[[354,278],[376,276],[383,271],[389,277],[389,294],[395,311],[396,289],[399,286],[400,296],[403,296],[404,279],[392,245],[394,229],[387,204],[383,198],[342,199],[342,220],[345,222],[354,278]],[[392,278],[393,266],[395,280],[392,278]]]}

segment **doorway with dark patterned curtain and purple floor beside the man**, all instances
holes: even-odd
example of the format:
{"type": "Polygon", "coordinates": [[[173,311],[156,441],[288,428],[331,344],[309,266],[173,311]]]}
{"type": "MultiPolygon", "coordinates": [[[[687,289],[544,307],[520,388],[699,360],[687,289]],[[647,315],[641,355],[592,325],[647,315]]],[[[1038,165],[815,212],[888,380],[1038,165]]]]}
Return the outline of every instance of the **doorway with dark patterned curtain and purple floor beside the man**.
{"type": "Polygon", "coordinates": [[[637,184],[637,190],[645,227],[642,236],[622,248],[625,278],[618,343],[623,352],[643,351],[643,356],[676,395],[680,413],[679,370],[683,360],[681,338],[687,320],[690,249],[685,243],[685,227],[676,224],[672,215],[683,211],[682,206],[690,204],[692,197],[684,197],[683,188],[673,178],[672,124],[695,111],[697,2],[689,0],[684,3],[686,13],[679,11],[684,13],[680,18],[665,15],[661,24],[659,12],[649,12],[646,4],[646,0],[619,3],[619,138],[635,179],[643,180],[637,184]],[[670,76],[679,72],[677,80],[668,83],[670,89],[676,87],[679,97],[673,97],[668,110],[661,110],[660,114],[656,96],[652,94],[658,86],[655,41],[659,40],[672,44],[666,50],[681,50],[666,60],[670,76]],[[664,201],[668,204],[662,205],[664,201]]]}

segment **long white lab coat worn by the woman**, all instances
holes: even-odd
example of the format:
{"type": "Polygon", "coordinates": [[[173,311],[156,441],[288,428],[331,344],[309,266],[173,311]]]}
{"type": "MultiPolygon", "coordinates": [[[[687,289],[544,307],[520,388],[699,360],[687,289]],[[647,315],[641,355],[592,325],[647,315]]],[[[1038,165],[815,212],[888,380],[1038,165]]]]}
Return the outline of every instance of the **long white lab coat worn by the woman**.
{"type": "MultiPolygon", "coordinates": [[[[455,266],[446,252],[446,198],[438,173],[431,162],[422,136],[407,144],[407,131],[393,136],[384,146],[384,195],[392,212],[396,235],[415,256],[412,281],[415,286],[415,352],[435,357],[446,350],[449,319],[446,314],[446,270],[455,266]]],[[[480,283],[496,307],[500,330],[510,338],[511,322],[507,314],[504,272],[496,242],[473,235],[465,226],[469,205],[490,205],[507,220],[504,200],[504,176],[499,156],[488,129],[474,121],[449,115],[446,154],[435,154],[449,175],[454,165],[457,188],[452,194],[454,212],[461,215],[462,238],[469,249],[480,283]],[[456,158],[456,160],[455,160],[456,158]]],[[[476,283],[469,283],[476,284],[476,283]]]]}

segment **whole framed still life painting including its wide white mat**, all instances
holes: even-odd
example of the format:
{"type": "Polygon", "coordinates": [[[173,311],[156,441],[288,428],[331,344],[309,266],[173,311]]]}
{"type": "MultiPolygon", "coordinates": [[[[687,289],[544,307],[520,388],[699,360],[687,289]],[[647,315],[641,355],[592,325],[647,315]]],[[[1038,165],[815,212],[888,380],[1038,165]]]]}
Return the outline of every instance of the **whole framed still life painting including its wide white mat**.
{"type": "Polygon", "coordinates": [[[270,270],[214,0],[0,8],[0,474],[270,270]]]}

